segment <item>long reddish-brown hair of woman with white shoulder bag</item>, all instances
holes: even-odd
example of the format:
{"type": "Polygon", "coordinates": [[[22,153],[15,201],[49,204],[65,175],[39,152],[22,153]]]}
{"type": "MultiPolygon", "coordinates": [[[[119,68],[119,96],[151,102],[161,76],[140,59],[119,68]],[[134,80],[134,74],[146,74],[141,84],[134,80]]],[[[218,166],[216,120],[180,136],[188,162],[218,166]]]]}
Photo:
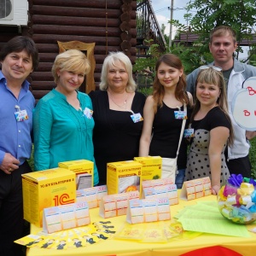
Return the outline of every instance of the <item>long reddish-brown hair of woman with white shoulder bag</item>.
{"type": "MultiPolygon", "coordinates": [[[[160,81],[157,78],[157,71],[161,63],[165,63],[167,66],[174,67],[179,70],[183,70],[182,61],[177,57],[177,55],[172,55],[172,54],[161,55],[160,58],[156,61],[156,64],[155,64],[156,74],[155,74],[154,83],[153,83],[153,88],[154,88],[153,99],[154,99],[154,102],[156,103],[156,106],[154,108],[155,113],[156,113],[157,107],[160,106],[161,108],[163,106],[163,98],[165,95],[164,86],[160,84],[160,81]]],[[[187,95],[185,89],[186,89],[186,79],[183,73],[177,83],[177,87],[175,90],[175,97],[177,98],[178,101],[184,102],[187,105],[189,105],[189,96],[187,95]]]]}

